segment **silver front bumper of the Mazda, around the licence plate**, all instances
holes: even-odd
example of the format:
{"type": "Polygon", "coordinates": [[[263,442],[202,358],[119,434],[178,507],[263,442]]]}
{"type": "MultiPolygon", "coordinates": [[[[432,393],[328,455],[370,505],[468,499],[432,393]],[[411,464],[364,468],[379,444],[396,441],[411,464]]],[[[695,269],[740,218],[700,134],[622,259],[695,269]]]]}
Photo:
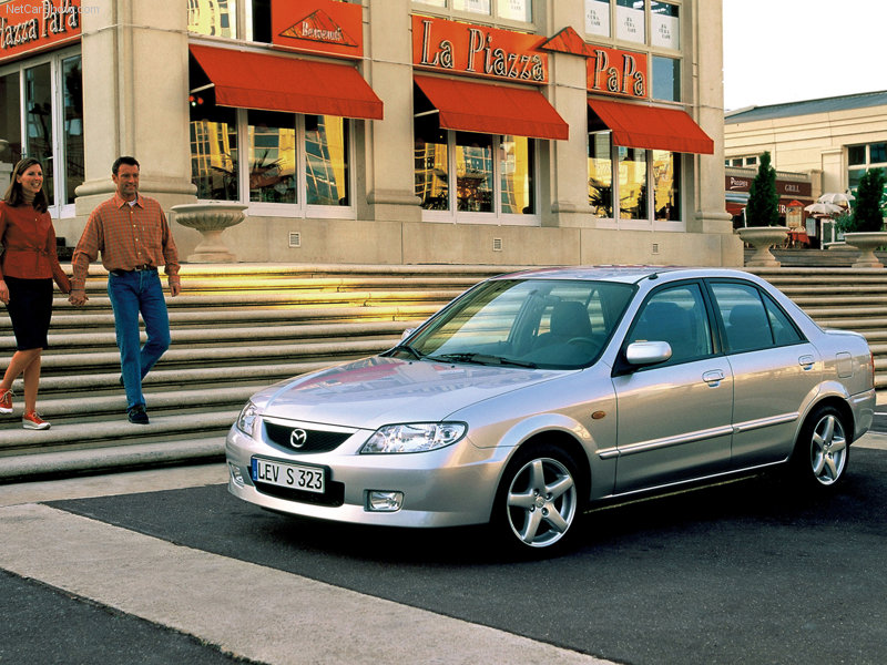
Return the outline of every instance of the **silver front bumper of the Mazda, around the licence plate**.
{"type": "Polygon", "coordinates": [[[228,491],[262,508],[320,520],[387,526],[459,526],[486,523],[507,449],[480,449],[468,439],[429,452],[359,454],[373,432],[357,431],[333,451],[293,454],[232,427],[225,442],[228,491]],[[257,483],[253,457],[327,470],[327,495],[257,483]],[[235,469],[239,478],[235,478],[235,469]],[[404,493],[400,510],[367,509],[367,493],[404,493]]]}

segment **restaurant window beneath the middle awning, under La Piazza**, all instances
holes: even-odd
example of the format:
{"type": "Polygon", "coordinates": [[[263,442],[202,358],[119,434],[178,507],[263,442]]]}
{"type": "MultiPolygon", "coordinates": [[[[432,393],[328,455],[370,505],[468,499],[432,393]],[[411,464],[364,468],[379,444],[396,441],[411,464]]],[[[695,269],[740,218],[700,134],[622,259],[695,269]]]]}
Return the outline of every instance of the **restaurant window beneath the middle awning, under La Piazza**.
{"type": "Polygon", "coordinates": [[[439,216],[481,213],[471,221],[536,214],[534,141],[415,124],[416,195],[439,216]]]}

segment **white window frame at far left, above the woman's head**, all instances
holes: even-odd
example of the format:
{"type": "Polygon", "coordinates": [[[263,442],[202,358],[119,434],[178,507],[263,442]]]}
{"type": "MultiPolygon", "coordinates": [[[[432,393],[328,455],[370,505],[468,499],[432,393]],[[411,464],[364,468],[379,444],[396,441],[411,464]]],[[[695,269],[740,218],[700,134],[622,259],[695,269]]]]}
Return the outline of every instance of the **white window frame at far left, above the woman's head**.
{"type": "MultiPolygon", "coordinates": [[[[19,74],[19,125],[20,125],[20,141],[22,147],[22,157],[29,156],[28,153],[28,112],[26,109],[27,94],[26,94],[26,76],[27,70],[38,68],[44,64],[50,65],[50,99],[52,104],[51,120],[52,120],[52,164],[48,165],[41,160],[41,165],[45,171],[52,168],[52,205],[48,211],[55,219],[69,219],[75,216],[75,203],[63,203],[65,201],[67,187],[67,173],[68,173],[68,149],[64,133],[64,68],[65,60],[79,57],[81,61],[81,82],[83,54],[80,44],[59,49],[58,51],[50,51],[26,60],[18,60],[7,65],[0,66],[0,76],[17,73],[19,74]]],[[[85,124],[85,121],[84,123],[85,124]]],[[[81,131],[83,127],[81,127],[81,131]]],[[[85,156],[82,166],[85,168],[85,156]]],[[[45,181],[45,177],[44,177],[45,181]]],[[[82,184],[82,182],[81,182],[82,184]]],[[[79,185],[77,185],[79,186],[79,185]]],[[[77,186],[74,190],[77,190],[77,186]]],[[[74,195],[74,192],[71,192],[74,195]]]]}

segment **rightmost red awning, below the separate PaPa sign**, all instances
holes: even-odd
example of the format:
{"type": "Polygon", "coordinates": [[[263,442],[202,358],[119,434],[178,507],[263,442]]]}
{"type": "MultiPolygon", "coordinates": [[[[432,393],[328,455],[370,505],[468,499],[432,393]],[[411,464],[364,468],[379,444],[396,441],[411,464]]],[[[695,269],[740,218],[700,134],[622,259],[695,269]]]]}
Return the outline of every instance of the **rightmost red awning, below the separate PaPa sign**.
{"type": "Polygon", "coordinates": [[[589,106],[613,131],[616,145],[714,154],[714,141],[685,111],[591,99],[589,106]]]}

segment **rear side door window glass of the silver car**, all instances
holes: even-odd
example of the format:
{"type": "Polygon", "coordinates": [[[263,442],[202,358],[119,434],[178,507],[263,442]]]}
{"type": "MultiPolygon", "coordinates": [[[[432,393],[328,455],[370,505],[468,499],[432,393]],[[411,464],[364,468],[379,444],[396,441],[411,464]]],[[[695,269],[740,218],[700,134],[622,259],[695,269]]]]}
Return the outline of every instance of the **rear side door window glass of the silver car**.
{"type": "MultiPolygon", "coordinates": [[[[766,349],[776,346],[771,311],[778,311],[774,303],[768,309],[764,305],[761,291],[748,284],[715,283],[712,284],[716,307],[724,321],[727,351],[738,354],[766,349]]],[[[782,315],[781,332],[794,330],[794,327],[782,315]]]]}

